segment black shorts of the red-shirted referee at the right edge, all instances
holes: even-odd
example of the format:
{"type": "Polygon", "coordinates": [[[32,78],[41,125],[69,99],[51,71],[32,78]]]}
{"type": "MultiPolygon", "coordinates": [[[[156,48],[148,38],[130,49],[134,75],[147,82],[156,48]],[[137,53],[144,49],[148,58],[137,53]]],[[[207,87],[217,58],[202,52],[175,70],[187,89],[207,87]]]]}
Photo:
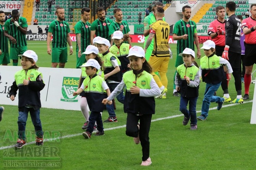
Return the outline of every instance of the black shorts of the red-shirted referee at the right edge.
{"type": "Polygon", "coordinates": [[[243,57],[243,64],[251,66],[256,64],[256,44],[245,44],[245,56],[243,57]]]}

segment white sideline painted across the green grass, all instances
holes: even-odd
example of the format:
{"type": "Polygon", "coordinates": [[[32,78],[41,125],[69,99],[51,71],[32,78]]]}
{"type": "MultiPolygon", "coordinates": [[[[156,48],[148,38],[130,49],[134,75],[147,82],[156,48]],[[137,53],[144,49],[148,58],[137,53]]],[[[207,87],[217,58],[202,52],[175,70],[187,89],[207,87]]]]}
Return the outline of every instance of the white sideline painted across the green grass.
{"type": "MultiPolygon", "coordinates": [[[[251,103],[253,102],[253,100],[249,100],[249,101],[246,101],[246,102],[243,102],[243,103],[251,103]]],[[[230,107],[230,106],[235,106],[235,105],[239,105],[239,103],[232,103],[232,104],[228,104],[228,105],[223,105],[222,108],[224,107],[230,107]]],[[[217,107],[213,107],[213,108],[210,108],[209,110],[216,110],[217,107]]],[[[196,111],[196,113],[200,113],[201,110],[199,111],[196,111]]],[[[156,122],[156,121],[161,121],[161,120],[164,120],[164,119],[172,119],[172,118],[177,118],[177,117],[180,117],[180,116],[183,116],[183,114],[177,114],[177,115],[173,115],[173,116],[168,116],[168,117],[165,117],[165,118],[158,118],[158,119],[154,119],[152,120],[151,122],[156,122]]],[[[117,126],[117,127],[110,127],[110,128],[107,128],[107,129],[104,129],[104,131],[107,131],[107,130],[115,130],[115,129],[121,129],[123,127],[126,127],[126,125],[123,125],[123,126],[117,126]]],[[[95,133],[95,132],[92,132],[92,133],[95,133]]],[[[55,141],[55,140],[60,140],[60,139],[65,139],[65,138],[71,138],[71,137],[76,137],[76,136],[79,136],[81,135],[81,133],[76,133],[76,134],[73,134],[73,135],[66,135],[66,136],[63,136],[63,137],[59,137],[59,138],[50,138],[50,139],[45,139],[45,141],[55,141]]],[[[31,141],[29,143],[26,143],[25,145],[31,145],[31,144],[35,144],[36,142],[35,141],[31,141]]],[[[10,146],[1,146],[0,147],[0,150],[3,150],[3,149],[8,149],[8,148],[13,148],[14,145],[10,145],[10,146]]]]}

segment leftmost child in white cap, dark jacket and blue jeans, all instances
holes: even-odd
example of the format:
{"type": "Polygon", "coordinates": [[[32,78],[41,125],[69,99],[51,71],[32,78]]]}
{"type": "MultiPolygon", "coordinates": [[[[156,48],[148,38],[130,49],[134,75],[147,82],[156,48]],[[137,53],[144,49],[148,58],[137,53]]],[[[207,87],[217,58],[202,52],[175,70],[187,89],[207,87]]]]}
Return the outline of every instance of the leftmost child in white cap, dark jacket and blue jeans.
{"type": "Polygon", "coordinates": [[[37,55],[32,50],[27,50],[21,56],[22,70],[15,73],[15,81],[11,86],[10,99],[13,101],[19,90],[19,117],[18,117],[18,141],[16,148],[22,148],[26,144],[26,121],[28,112],[36,131],[36,145],[43,145],[43,131],[40,120],[40,91],[44,89],[42,73],[38,71],[37,55]]]}

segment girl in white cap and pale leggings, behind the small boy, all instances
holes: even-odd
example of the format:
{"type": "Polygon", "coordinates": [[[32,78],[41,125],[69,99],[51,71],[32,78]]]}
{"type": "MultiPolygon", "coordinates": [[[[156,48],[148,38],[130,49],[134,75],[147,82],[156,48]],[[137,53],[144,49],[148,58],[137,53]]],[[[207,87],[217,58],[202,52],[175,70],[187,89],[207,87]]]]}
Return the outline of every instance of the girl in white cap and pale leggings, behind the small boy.
{"type": "MultiPolygon", "coordinates": [[[[97,71],[97,75],[104,78],[103,63],[102,63],[102,60],[100,59],[100,57],[98,56],[98,53],[99,53],[99,50],[96,46],[89,45],[89,46],[87,46],[85,52],[83,52],[82,54],[85,54],[86,61],[89,59],[97,60],[97,62],[100,65],[100,69],[97,71]]],[[[81,84],[83,83],[84,79],[87,77],[86,72],[85,72],[85,67],[81,67],[81,71],[82,72],[81,72],[81,76],[79,78],[78,89],[81,87],[81,84]]],[[[85,97],[85,93],[81,92],[80,96],[81,96],[80,108],[81,108],[81,112],[86,120],[86,122],[84,122],[84,124],[83,124],[82,129],[87,129],[87,127],[89,126],[89,111],[87,109],[88,104],[87,104],[87,100],[85,97]]],[[[94,126],[94,130],[96,130],[96,128],[97,128],[97,125],[94,126]]]]}

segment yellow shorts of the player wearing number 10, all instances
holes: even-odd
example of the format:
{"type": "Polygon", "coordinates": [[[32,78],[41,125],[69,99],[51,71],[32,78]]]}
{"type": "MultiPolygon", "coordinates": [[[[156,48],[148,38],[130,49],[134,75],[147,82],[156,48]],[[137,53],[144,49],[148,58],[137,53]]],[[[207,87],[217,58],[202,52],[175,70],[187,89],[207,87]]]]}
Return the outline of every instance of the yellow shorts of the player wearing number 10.
{"type": "Polygon", "coordinates": [[[153,57],[150,56],[149,64],[151,65],[153,72],[167,73],[170,57],[153,57]]]}

